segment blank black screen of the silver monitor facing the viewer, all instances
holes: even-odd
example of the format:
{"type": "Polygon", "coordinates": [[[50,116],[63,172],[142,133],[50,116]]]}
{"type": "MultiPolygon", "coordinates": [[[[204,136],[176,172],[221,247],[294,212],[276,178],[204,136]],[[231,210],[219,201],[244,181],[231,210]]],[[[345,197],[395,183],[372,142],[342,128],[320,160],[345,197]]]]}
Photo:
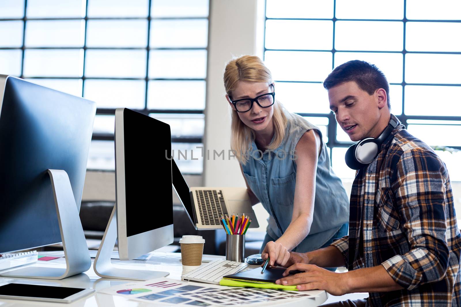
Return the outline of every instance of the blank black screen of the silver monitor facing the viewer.
{"type": "Polygon", "coordinates": [[[170,126],[124,110],[127,237],[173,224],[170,126]]]}

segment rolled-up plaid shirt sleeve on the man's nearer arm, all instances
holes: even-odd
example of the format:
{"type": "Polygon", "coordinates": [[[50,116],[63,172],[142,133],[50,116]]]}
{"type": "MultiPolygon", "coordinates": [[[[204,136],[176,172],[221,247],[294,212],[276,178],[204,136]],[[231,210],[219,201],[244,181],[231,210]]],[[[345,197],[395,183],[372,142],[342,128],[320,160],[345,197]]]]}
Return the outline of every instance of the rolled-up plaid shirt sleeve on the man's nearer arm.
{"type": "Polygon", "coordinates": [[[412,290],[441,280],[447,271],[446,168],[434,152],[411,149],[392,161],[391,189],[410,250],[382,265],[397,284],[412,290]]]}

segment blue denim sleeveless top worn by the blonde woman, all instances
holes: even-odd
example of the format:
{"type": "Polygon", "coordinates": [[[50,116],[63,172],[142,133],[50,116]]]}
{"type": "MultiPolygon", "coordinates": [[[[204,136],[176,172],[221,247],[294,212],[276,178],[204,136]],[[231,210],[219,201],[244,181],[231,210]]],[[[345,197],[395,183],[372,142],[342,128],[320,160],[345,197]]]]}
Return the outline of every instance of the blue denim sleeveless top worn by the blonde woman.
{"type": "Polygon", "coordinates": [[[315,181],[313,222],[307,237],[293,249],[307,252],[324,245],[340,227],[349,222],[349,199],[341,180],[330,167],[328,148],[318,127],[302,116],[291,114],[282,144],[272,151],[258,151],[252,143],[243,174],[254,195],[269,213],[267,234],[278,239],[291,222],[296,185],[296,144],[308,130],[314,129],[321,140],[315,181]]]}

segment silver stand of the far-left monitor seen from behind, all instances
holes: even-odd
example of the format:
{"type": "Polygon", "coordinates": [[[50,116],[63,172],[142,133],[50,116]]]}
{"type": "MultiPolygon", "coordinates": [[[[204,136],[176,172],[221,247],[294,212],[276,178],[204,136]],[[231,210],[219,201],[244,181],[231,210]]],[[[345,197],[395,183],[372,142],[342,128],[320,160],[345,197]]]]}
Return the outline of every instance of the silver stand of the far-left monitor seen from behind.
{"type": "Polygon", "coordinates": [[[83,273],[91,267],[91,258],[69,176],[62,169],[48,169],[58,215],[66,267],[26,266],[1,273],[3,277],[63,279],[83,273]]]}

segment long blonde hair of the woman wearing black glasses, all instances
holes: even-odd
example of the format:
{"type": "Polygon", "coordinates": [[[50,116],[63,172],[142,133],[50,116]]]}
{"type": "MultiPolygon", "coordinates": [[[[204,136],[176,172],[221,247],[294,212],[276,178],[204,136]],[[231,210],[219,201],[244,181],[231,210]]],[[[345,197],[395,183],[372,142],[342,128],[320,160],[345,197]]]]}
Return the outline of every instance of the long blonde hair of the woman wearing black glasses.
{"type": "MultiPolygon", "coordinates": [[[[238,81],[267,82],[272,84],[271,71],[256,56],[244,55],[240,58],[233,58],[226,64],[224,71],[224,87],[226,93],[232,96],[232,91],[237,87],[238,81]]],[[[285,127],[287,116],[283,105],[277,100],[273,104],[274,112],[272,122],[274,125],[274,138],[267,149],[274,150],[282,143],[285,137],[285,127]]],[[[237,111],[232,109],[231,123],[231,149],[235,151],[235,156],[239,162],[246,164],[251,155],[251,143],[254,141],[254,130],[245,125],[238,117],[237,111]]]]}

